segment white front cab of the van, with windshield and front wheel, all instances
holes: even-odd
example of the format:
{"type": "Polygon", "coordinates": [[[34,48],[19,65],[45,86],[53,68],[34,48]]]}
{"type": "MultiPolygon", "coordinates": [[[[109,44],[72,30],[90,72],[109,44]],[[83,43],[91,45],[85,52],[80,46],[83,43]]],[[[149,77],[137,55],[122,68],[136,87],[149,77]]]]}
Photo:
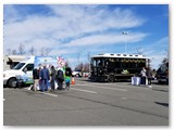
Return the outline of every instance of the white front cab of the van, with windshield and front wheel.
{"type": "Polygon", "coordinates": [[[13,69],[3,72],[3,84],[8,87],[16,87],[16,76],[33,76],[35,56],[26,57],[20,62],[13,69]]]}

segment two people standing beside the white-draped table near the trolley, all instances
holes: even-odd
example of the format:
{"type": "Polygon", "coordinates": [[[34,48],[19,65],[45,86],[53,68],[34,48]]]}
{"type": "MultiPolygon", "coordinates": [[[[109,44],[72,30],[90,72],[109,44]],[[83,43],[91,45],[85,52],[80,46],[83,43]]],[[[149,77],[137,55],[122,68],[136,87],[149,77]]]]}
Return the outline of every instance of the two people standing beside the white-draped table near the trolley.
{"type": "Polygon", "coordinates": [[[148,84],[149,88],[152,88],[151,86],[151,80],[152,78],[154,78],[154,73],[152,73],[152,70],[150,69],[150,67],[145,68],[142,67],[141,72],[140,72],[140,77],[141,77],[141,84],[148,84]],[[146,83],[146,81],[148,81],[146,83]]]}

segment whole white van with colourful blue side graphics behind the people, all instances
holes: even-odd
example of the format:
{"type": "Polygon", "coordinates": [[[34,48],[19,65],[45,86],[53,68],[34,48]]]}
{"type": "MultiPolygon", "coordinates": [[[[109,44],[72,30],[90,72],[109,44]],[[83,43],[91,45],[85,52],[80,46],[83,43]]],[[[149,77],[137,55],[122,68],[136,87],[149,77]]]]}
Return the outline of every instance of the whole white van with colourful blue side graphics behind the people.
{"type": "Polygon", "coordinates": [[[47,64],[47,66],[54,65],[55,67],[63,67],[65,61],[61,56],[28,56],[25,61],[20,62],[13,69],[3,72],[3,84],[8,87],[16,87],[18,77],[25,78],[26,84],[32,84],[33,69],[39,65],[47,64]]]}

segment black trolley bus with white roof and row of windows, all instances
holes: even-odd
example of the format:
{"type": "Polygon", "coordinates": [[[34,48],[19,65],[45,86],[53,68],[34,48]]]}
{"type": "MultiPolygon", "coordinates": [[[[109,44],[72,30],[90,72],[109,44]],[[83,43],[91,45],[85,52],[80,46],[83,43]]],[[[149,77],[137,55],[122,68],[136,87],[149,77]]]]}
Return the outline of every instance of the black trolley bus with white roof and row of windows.
{"type": "Polygon", "coordinates": [[[149,67],[149,58],[139,54],[98,54],[90,57],[90,79],[116,81],[130,79],[142,67],[149,67]]]}

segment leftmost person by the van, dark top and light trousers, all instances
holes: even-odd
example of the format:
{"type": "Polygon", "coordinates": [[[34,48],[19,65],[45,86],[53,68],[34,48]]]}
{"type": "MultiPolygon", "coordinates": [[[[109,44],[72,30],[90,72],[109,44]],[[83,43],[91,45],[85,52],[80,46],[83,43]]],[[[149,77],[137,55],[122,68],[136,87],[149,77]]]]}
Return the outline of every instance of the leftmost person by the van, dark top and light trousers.
{"type": "Polygon", "coordinates": [[[38,86],[38,81],[39,81],[39,69],[35,68],[33,70],[33,79],[34,79],[34,88],[33,88],[33,90],[36,91],[37,90],[37,86],[38,86]]]}

